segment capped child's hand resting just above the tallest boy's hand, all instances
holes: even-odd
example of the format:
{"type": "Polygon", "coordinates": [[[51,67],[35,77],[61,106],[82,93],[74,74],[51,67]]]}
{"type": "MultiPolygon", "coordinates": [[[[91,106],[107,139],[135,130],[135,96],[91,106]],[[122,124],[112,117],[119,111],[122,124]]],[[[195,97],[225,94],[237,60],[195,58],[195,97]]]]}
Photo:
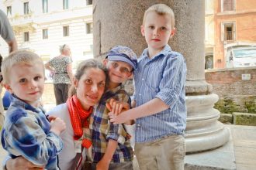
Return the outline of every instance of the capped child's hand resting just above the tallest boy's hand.
{"type": "Polygon", "coordinates": [[[118,101],[116,99],[110,99],[109,103],[106,103],[106,107],[111,111],[113,114],[120,114],[123,110],[129,110],[130,105],[126,102],[118,101]]]}

